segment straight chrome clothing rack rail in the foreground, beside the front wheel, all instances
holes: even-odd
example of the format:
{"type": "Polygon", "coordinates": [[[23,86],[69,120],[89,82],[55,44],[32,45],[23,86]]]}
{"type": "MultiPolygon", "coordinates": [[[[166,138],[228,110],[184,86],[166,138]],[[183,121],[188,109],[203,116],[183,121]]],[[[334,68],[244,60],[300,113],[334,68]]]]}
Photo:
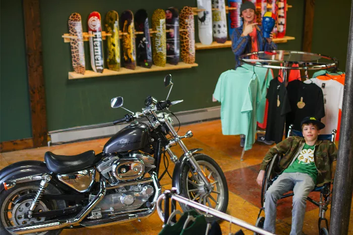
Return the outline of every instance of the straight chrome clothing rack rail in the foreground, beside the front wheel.
{"type": "Polygon", "coordinates": [[[183,203],[187,206],[193,207],[195,209],[201,210],[206,212],[206,214],[214,215],[218,218],[224,219],[226,221],[229,221],[230,223],[236,224],[238,226],[244,227],[246,229],[252,230],[254,232],[257,232],[259,234],[263,235],[274,235],[274,233],[265,231],[259,227],[256,227],[254,225],[251,225],[241,219],[238,219],[236,217],[233,217],[231,215],[227,215],[223,212],[220,212],[218,210],[215,210],[211,207],[202,205],[200,203],[194,202],[190,199],[187,199],[185,197],[182,197],[177,194],[177,188],[171,188],[171,190],[165,190],[163,194],[161,194],[158,199],[157,199],[157,212],[160,217],[160,219],[166,224],[166,221],[168,221],[169,218],[169,202],[171,202],[171,212],[175,210],[176,208],[176,202],[183,203]],[[164,200],[164,213],[162,210],[162,201],[164,200]]]}

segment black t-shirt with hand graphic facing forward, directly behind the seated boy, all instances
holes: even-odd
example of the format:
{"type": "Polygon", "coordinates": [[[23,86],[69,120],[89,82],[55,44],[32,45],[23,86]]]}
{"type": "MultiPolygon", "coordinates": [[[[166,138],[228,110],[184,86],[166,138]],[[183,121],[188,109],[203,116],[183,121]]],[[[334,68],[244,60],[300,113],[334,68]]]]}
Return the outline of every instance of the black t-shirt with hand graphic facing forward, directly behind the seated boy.
{"type": "Polygon", "coordinates": [[[324,95],[316,84],[295,80],[288,83],[287,93],[291,111],[286,116],[286,133],[290,124],[294,130],[301,131],[301,122],[306,116],[315,116],[319,121],[325,116],[324,95]],[[304,107],[303,103],[298,104],[301,99],[304,107]]]}

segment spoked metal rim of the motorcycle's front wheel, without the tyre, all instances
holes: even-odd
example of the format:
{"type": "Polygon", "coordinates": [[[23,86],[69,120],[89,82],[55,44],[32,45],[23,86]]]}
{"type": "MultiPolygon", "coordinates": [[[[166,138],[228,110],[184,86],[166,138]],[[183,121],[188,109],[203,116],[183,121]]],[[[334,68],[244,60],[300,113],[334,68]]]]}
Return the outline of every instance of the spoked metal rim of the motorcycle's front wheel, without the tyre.
{"type": "Polygon", "coordinates": [[[189,169],[186,184],[188,197],[195,202],[220,210],[224,202],[224,188],[220,174],[208,161],[200,160],[197,163],[210,181],[212,189],[207,190],[200,175],[189,169]]]}

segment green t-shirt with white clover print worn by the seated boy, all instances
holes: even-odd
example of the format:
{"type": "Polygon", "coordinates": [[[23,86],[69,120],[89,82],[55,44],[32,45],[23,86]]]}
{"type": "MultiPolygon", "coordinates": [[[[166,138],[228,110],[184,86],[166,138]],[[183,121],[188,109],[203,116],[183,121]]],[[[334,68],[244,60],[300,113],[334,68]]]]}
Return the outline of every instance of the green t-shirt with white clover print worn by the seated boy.
{"type": "Polygon", "coordinates": [[[318,171],[314,162],[314,150],[315,145],[309,146],[304,144],[303,150],[298,155],[297,159],[286,168],[283,172],[301,172],[309,174],[316,185],[316,178],[318,176],[318,171]]]}

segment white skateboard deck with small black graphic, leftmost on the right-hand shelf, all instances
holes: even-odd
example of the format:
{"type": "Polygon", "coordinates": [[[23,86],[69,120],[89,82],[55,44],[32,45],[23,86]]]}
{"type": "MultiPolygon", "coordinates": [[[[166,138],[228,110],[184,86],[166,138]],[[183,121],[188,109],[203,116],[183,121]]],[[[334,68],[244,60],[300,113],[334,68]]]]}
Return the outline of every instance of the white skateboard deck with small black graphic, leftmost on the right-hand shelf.
{"type": "Polygon", "coordinates": [[[202,44],[212,43],[212,4],[211,0],[197,0],[197,8],[204,10],[197,15],[199,39],[202,44]]]}

